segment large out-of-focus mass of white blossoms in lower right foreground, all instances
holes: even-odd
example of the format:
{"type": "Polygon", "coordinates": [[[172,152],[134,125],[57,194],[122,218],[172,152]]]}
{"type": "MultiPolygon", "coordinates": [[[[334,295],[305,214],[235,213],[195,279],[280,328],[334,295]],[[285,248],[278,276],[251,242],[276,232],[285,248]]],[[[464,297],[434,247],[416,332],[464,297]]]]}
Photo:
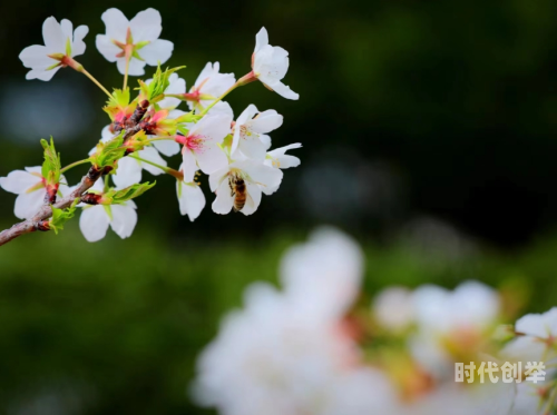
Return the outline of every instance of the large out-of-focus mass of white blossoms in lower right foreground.
{"type": "Polygon", "coordinates": [[[527,315],[515,327],[500,325],[509,318],[504,296],[477,281],[455,290],[391,287],[370,308],[356,302],[362,275],[360,248],[338,230],[320,229],[291,248],[280,267],[283,289],[248,287],[244,309],[224,319],[202,353],[196,401],[224,415],[555,409],[557,308],[527,315]],[[522,362],[528,370],[544,362],[546,378],[529,382],[526,370],[511,372],[510,383],[480,383],[485,360],[501,369],[502,362],[522,362]],[[468,374],[476,382],[456,382],[459,362],[477,364],[479,372],[468,374]]]}

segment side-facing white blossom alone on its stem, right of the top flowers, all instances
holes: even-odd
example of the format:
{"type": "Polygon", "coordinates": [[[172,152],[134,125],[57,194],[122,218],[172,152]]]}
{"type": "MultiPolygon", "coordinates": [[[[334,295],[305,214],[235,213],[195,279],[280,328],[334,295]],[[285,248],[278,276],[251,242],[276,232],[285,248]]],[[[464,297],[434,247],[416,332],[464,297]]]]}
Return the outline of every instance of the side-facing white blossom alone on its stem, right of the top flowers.
{"type": "Polygon", "coordinates": [[[289,52],[277,46],[268,45],[268,33],[261,28],[255,37],[255,50],[252,57],[253,76],[268,89],[287,99],[300,96],[281,82],[289,70],[289,52]]]}

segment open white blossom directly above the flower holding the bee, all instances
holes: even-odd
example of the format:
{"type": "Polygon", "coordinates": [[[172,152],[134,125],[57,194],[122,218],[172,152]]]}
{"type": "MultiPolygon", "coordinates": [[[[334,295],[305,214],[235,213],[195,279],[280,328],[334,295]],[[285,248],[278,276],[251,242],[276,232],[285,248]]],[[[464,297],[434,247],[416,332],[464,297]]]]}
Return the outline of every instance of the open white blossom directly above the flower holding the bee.
{"type": "Polygon", "coordinates": [[[237,149],[247,158],[263,160],[265,150],[271,147],[271,138],[266,135],[282,126],[283,116],[274,109],[257,110],[253,103],[242,112],[234,126],[232,154],[237,149]]]}

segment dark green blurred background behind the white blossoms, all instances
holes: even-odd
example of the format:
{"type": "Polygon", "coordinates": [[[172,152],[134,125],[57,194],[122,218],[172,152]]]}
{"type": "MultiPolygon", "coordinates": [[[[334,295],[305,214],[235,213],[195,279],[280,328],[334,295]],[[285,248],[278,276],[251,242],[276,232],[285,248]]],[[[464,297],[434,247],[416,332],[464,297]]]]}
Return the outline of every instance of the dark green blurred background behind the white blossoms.
{"type": "MultiPolygon", "coordinates": [[[[102,93],[69,69],[26,81],[18,55],[42,43],[47,17],[68,18],[90,29],[78,60],[120,87],[95,48],[110,7],[160,11],[188,88],[208,60],[245,75],[265,26],[301,99],[254,83],[228,101],[236,116],[252,102],[283,113],[273,144],[302,142],[302,166],[252,217],[206,207],[190,223],[159,177],[130,239],[88,244],[74,220],[1,247],[0,413],[211,414],[187,394],[196,356],[246,285],[276,281],[282,253],[319,224],[363,244],[369,297],[475,278],[521,293],[528,310],[555,305],[555,1],[2,2],[0,176],[39,165],[41,137],[63,164],[100,138],[102,93]]],[[[0,194],[2,228],[13,200],[0,194]]]]}

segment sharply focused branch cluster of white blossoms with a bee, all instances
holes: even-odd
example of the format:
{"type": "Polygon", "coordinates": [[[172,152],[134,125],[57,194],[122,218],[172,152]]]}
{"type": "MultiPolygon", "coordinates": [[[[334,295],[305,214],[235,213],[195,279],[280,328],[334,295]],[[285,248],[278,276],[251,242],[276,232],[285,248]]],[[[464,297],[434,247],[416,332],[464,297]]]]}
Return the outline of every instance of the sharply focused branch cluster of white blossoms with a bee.
{"type": "MultiPolygon", "coordinates": [[[[48,186],[56,186],[59,197],[56,208],[75,209],[77,202],[80,202],[77,207],[84,207],[80,228],[87,240],[101,239],[108,226],[126,238],[137,223],[137,207],[131,198],[144,191],[136,191],[145,185],[140,185],[143,170],[154,176],[168,174],[176,179],[179,211],[190,220],[197,218],[206,205],[199,181],[202,174],[208,176],[211,191],[216,195],[212,204],[215,213],[225,215],[235,210],[252,215],[262,195],[268,196],[278,189],[283,169],[300,165],[300,159],[286,151],[301,145],[271,149],[268,134],[282,126],[283,116],[250,105],[234,120],[232,107],[223,98],[237,87],[261,80],[270,90],[297,99],[299,95],[282,82],[289,69],[289,53],[268,45],[267,31],[262,28],[255,38],[252,70],[246,76],[236,79],[234,73],[221,72],[218,62],[208,62],[187,89],[186,81],[178,75],[182,68],[160,69],[160,63],[170,58],[174,45],[159,39],[163,28],[157,10],[144,10],[128,20],[118,9],[109,9],[101,19],[106,33],[97,36],[96,46],[124,75],[121,89],[109,92],[74,59],[85,52],[86,26],[74,31],[70,21],[59,23],[48,18],[42,27],[45,46],[28,47],[20,55],[23,66],[30,68],[28,79],[50,80],[65,67],[86,75],[108,96],[104,110],[110,122],[102,129],[89,158],[66,168],[58,166],[56,171],[50,164],[50,167],[26,168],[27,171],[17,170],[0,178],[4,190],[19,195],[16,216],[29,220],[38,216],[41,220],[46,219],[43,216],[48,218],[53,210],[38,211],[45,204],[55,204],[56,195],[46,198],[45,191],[48,186]],[[153,78],[138,80],[139,92],[133,98],[128,76],[143,76],[146,65],[158,68],[153,78]],[[187,111],[180,108],[183,102],[187,102],[187,111]],[[177,155],[179,167],[173,169],[165,157],[177,155]],[[91,165],[88,176],[68,189],[61,174],[87,162],[91,165]],[[46,180],[45,176],[51,171],[56,172],[56,182],[46,180]],[[117,198],[113,197],[116,192],[120,195],[117,198]],[[75,199],[79,200],[74,204],[75,199]]],[[[52,151],[56,155],[53,144],[52,151]]],[[[53,165],[59,161],[57,155],[53,165]]],[[[30,230],[35,228],[33,225],[30,230]]]]}

